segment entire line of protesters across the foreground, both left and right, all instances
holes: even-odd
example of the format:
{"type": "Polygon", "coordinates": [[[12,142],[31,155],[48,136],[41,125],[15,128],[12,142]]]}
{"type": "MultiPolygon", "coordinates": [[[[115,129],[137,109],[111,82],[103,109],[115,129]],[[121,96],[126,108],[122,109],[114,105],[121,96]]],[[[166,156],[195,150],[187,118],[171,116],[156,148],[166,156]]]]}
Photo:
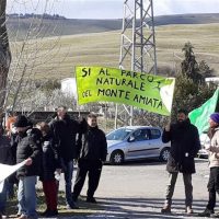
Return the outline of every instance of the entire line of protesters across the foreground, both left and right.
{"type": "MultiPolygon", "coordinates": [[[[94,193],[97,188],[102,165],[107,155],[105,134],[99,129],[96,116],[90,114],[88,119],[77,122],[67,114],[66,107],[57,110],[56,118],[46,124],[38,123],[33,126],[30,120],[21,115],[14,122],[15,131],[10,132],[10,138],[3,136],[0,127],[0,163],[14,164],[25,162],[16,172],[18,219],[35,219],[36,214],[36,177],[43,182],[46,198],[45,217],[58,215],[58,182],[55,173],[64,173],[66,183],[66,204],[68,209],[78,208],[77,200],[89,173],[87,201],[96,203],[94,193]],[[11,141],[10,141],[11,140],[11,141]],[[73,161],[78,161],[78,171],[73,192],[72,174],[73,161]]],[[[209,151],[210,177],[208,183],[209,200],[206,209],[198,214],[200,217],[218,217],[215,214],[216,193],[219,194],[219,113],[214,113],[209,118],[210,146],[209,151]]],[[[195,157],[200,149],[197,128],[191,124],[184,110],[177,112],[175,124],[165,126],[162,141],[171,141],[170,157],[166,164],[169,183],[165,191],[165,200],[162,214],[170,214],[172,197],[178,173],[183,173],[185,186],[185,211],[193,214],[193,185],[192,174],[195,173],[195,157]]],[[[0,193],[0,219],[5,215],[7,191],[9,181],[0,193]]]]}

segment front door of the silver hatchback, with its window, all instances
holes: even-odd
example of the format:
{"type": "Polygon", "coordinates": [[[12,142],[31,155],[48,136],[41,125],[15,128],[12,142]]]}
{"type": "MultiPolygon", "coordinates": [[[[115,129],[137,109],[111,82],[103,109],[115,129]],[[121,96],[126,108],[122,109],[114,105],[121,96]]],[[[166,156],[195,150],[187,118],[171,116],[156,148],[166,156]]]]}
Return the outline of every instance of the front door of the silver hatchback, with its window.
{"type": "Polygon", "coordinates": [[[128,141],[126,159],[146,158],[149,147],[149,130],[141,128],[135,130],[128,141]]]}

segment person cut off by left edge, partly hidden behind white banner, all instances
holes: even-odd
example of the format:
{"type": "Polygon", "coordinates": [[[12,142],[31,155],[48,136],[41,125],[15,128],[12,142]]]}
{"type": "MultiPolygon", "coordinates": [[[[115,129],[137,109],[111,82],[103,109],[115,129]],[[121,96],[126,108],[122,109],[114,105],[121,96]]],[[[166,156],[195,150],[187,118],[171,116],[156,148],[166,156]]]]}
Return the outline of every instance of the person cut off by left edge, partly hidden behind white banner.
{"type": "MultiPolygon", "coordinates": [[[[12,164],[10,139],[3,136],[3,127],[0,125],[0,163],[12,164]]],[[[4,180],[0,192],[0,218],[5,217],[8,180],[4,180]]]]}

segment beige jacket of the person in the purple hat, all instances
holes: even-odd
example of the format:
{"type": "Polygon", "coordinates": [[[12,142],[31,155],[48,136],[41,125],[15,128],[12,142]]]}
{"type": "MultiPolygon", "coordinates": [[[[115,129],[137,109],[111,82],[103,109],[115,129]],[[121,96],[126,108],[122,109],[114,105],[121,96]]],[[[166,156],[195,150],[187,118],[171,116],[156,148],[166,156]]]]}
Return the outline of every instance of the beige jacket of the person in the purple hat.
{"type": "Polygon", "coordinates": [[[208,160],[209,168],[219,166],[219,127],[215,128],[214,135],[210,137],[208,160]]]}

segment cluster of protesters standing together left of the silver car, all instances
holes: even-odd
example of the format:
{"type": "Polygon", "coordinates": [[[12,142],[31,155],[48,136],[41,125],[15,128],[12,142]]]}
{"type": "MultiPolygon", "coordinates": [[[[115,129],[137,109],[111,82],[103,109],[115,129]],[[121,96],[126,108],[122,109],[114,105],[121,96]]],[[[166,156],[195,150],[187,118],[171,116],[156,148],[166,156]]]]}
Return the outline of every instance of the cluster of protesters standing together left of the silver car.
{"type": "MultiPolygon", "coordinates": [[[[18,178],[18,219],[36,219],[36,181],[43,183],[46,199],[45,217],[57,216],[58,181],[56,174],[64,173],[66,205],[68,209],[78,208],[76,201],[81,193],[87,173],[89,186],[87,201],[96,203],[102,165],[107,154],[105,134],[99,129],[96,115],[77,122],[67,114],[65,106],[57,110],[56,117],[49,123],[33,125],[26,116],[19,115],[13,120],[15,131],[3,136],[0,127],[0,163],[24,162],[16,171],[18,178]],[[73,162],[78,162],[76,182],[72,187],[73,162]]],[[[0,193],[0,219],[5,218],[7,191],[14,181],[4,181],[0,193]]]]}

